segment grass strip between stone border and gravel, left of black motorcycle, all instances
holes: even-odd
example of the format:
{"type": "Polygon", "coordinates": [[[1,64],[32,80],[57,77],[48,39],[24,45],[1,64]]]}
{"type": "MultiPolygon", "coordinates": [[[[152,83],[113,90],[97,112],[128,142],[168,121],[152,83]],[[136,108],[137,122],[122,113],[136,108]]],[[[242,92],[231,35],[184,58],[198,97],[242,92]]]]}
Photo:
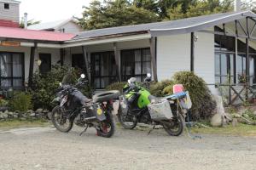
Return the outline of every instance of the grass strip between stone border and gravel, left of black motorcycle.
{"type": "Polygon", "coordinates": [[[47,127],[49,126],[49,122],[46,120],[9,120],[0,122],[0,130],[9,130],[12,128],[19,128],[19,127],[47,127]]]}

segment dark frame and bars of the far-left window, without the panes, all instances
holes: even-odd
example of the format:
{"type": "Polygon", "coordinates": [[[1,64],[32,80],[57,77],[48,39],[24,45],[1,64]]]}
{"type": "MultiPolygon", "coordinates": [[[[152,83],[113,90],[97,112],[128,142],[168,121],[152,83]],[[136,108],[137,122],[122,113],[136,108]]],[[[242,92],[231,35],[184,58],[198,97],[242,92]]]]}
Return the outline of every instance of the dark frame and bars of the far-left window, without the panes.
{"type": "MultiPolygon", "coordinates": [[[[14,89],[24,89],[24,86],[25,86],[25,54],[24,53],[19,53],[19,52],[6,52],[6,51],[1,51],[0,54],[10,54],[11,56],[11,74],[12,74],[12,77],[2,77],[2,70],[0,69],[0,88],[1,89],[7,89],[7,88],[14,88],[14,89]],[[13,63],[13,55],[14,54],[20,54],[21,56],[21,64],[22,64],[22,77],[14,77],[14,71],[13,71],[13,68],[14,68],[14,63],[13,63]],[[11,80],[11,86],[10,87],[3,87],[1,84],[2,84],[2,80],[11,80]],[[15,79],[21,79],[22,81],[22,85],[20,87],[14,87],[14,80],[15,79]]],[[[1,63],[1,59],[0,59],[0,63],[1,63]]]]}

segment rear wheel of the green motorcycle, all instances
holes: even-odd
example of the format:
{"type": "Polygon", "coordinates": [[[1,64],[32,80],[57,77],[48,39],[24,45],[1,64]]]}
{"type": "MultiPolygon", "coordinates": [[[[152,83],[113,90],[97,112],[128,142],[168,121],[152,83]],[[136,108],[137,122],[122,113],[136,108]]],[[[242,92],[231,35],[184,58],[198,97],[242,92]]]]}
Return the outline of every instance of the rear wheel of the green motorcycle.
{"type": "Polygon", "coordinates": [[[184,120],[183,116],[178,114],[177,117],[173,117],[170,121],[163,121],[162,125],[164,129],[166,130],[166,133],[168,133],[171,136],[179,136],[183,133],[184,128],[184,120]]]}

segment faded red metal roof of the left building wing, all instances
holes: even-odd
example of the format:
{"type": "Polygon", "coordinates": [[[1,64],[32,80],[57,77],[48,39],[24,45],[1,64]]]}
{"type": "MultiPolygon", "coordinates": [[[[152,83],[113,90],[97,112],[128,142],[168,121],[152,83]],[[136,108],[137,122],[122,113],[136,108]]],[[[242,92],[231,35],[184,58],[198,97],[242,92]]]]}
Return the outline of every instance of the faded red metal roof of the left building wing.
{"type": "Polygon", "coordinates": [[[72,39],[75,35],[53,31],[34,31],[21,28],[0,27],[0,37],[32,41],[64,42],[72,39]]]}

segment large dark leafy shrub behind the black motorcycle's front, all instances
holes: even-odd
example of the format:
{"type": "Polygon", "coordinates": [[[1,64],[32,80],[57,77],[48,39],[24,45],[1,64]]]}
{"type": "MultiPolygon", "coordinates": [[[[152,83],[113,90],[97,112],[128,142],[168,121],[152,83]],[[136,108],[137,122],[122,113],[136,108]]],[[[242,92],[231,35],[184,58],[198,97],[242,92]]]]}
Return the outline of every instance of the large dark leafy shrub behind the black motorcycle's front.
{"type": "MultiPolygon", "coordinates": [[[[75,84],[80,76],[81,71],[70,69],[67,66],[53,65],[51,71],[41,74],[36,71],[32,78],[32,105],[34,109],[43,108],[51,110],[53,105],[51,101],[55,98],[55,90],[59,87],[64,76],[66,83],[75,84]],[[68,75],[68,76],[67,76],[68,75]]],[[[88,96],[91,88],[84,86],[80,89],[84,95],[88,96]]]]}

